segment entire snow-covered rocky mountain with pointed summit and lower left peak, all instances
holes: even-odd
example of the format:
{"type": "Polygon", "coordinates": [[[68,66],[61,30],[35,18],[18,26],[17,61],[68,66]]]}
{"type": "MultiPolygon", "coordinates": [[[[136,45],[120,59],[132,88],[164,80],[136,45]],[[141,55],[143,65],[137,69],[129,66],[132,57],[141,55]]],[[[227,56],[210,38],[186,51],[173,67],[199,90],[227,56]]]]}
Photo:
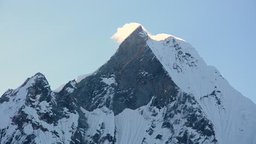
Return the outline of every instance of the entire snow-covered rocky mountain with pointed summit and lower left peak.
{"type": "Polygon", "coordinates": [[[256,143],[256,105],[184,40],[153,38],[138,26],[57,91],[40,73],[8,89],[0,143],[256,143]]]}

